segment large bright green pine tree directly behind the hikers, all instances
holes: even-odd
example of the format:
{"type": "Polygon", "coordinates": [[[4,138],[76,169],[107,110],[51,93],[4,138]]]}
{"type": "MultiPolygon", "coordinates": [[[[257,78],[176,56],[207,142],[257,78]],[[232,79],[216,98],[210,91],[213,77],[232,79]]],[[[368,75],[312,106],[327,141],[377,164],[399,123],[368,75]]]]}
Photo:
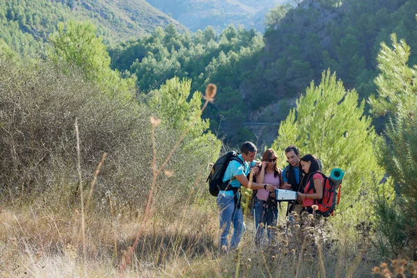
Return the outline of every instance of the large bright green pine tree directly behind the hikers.
{"type": "MultiPolygon", "coordinates": [[[[364,101],[345,90],[336,74],[323,72],[320,85],[313,82],[297,100],[297,108],[281,122],[273,148],[284,154],[288,145],[296,145],[302,155],[313,154],[330,174],[334,167],[345,171],[343,195],[338,211],[354,205],[364,210],[363,197],[370,198],[373,181],[382,179],[373,150],[375,131],[370,117],[363,115],[364,101]],[[368,195],[368,196],[366,196],[368,195]]],[[[285,166],[285,165],[281,165],[285,166]]]]}

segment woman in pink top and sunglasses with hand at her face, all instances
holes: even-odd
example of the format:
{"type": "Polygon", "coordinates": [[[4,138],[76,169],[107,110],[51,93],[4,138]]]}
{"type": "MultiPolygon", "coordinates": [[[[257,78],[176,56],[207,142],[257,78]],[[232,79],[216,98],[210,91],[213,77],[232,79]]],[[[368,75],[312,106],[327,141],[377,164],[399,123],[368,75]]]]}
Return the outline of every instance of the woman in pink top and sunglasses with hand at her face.
{"type": "MultiPolygon", "coordinates": [[[[269,183],[279,189],[279,186],[282,184],[281,172],[282,170],[277,165],[277,153],[273,149],[265,150],[262,156],[261,170],[255,176],[256,182],[269,183]]],[[[263,188],[256,190],[256,196],[254,197],[254,217],[256,223],[255,244],[258,246],[261,245],[265,225],[268,231],[268,243],[273,243],[276,238],[275,233],[270,227],[275,229],[278,220],[275,192],[271,193],[263,188]]]]}

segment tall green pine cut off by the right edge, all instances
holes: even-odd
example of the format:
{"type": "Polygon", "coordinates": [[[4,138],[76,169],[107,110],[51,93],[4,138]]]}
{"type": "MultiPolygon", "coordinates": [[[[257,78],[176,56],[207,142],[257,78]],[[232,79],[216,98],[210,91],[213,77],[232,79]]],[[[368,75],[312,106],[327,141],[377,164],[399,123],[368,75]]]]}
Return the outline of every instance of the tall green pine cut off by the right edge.
{"type": "Polygon", "coordinates": [[[417,243],[417,95],[416,65],[409,67],[410,47],[391,35],[392,48],[382,43],[378,55],[381,71],[375,79],[379,95],[370,98],[376,114],[389,113],[383,136],[375,143],[379,164],[395,182],[394,202],[379,199],[380,247],[384,253],[416,258],[417,243]],[[386,229],[393,220],[394,231],[386,229]]]}

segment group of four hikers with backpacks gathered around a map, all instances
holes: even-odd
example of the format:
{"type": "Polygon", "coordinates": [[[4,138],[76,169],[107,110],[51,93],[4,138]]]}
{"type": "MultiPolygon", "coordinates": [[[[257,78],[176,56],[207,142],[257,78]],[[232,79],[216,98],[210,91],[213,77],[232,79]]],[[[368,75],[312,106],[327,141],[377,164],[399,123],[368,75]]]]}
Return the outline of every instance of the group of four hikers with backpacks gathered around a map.
{"type": "Polygon", "coordinates": [[[236,250],[246,231],[240,207],[240,186],[253,190],[251,208],[257,246],[263,242],[265,228],[268,243],[275,242],[275,230],[268,227],[277,226],[280,201],[288,202],[286,215],[290,221],[295,221],[291,218],[291,211],[300,214],[302,211],[313,213],[314,210],[315,215],[327,217],[338,204],[342,170],[335,168],[326,177],[320,172],[320,160],[312,154],[300,158],[300,151],[294,145],[285,149],[288,165],[284,170],[278,167],[278,156],[273,149],[266,149],[261,161],[255,161],[256,152],[252,142],[244,142],[240,154],[228,152],[220,156],[208,176],[210,193],[217,197],[220,214],[220,252],[236,250]],[[231,225],[234,231],[229,244],[227,238],[231,225]]]}

